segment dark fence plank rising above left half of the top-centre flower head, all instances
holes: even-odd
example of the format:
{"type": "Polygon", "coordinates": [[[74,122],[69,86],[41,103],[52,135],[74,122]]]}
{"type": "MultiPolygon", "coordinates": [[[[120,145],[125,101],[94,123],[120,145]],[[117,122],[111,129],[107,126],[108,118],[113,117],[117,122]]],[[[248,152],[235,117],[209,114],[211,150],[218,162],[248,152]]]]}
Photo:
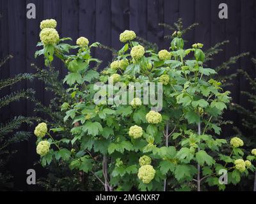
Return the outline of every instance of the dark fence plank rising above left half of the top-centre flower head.
{"type": "Polygon", "coordinates": [[[112,47],[119,50],[123,46],[120,33],[129,29],[129,0],[111,0],[111,28],[112,47]]]}

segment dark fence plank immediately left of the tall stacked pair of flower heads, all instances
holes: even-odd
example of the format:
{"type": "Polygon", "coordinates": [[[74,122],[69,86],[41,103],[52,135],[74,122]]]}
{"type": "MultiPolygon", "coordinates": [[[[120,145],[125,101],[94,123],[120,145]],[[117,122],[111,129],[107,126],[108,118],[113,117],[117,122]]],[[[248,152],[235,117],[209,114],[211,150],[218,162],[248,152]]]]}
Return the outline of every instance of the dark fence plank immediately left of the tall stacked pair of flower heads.
{"type": "MultiPolygon", "coordinates": [[[[35,19],[22,19],[26,20],[26,72],[35,73],[35,69],[31,67],[31,63],[36,64],[36,66],[40,68],[44,68],[44,59],[42,56],[35,59],[35,51],[39,48],[36,47],[38,41],[40,41],[39,33],[40,33],[40,22],[43,18],[43,1],[40,0],[26,0],[26,4],[34,3],[36,6],[36,18],[35,19]]],[[[35,98],[44,101],[44,83],[39,80],[33,80],[33,82],[27,82],[27,87],[35,90],[35,98]]],[[[27,115],[33,116],[35,104],[29,100],[27,102],[27,115]]],[[[39,115],[37,115],[39,116],[39,115]]],[[[27,131],[31,131],[33,133],[34,127],[27,128],[27,131]]],[[[42,173],[42,168],[40,166],[34,166],[35,161],[38,161],[39,157],[36,154],[36,137],[31,136],[29,138],[28,143],[26,143],[26,170],[35,169],[36,175],[40,175],[42,173]]],[[[24,162],[24,160],[23,160],[24,162]]],[[[25,163],[25,162],[24,162],[25,163]]],[[[27,190],[32,191],[35,189],[35,185],[27,185],[26,180],[23,180],[23,189],[26,187],[27,190]]]]}

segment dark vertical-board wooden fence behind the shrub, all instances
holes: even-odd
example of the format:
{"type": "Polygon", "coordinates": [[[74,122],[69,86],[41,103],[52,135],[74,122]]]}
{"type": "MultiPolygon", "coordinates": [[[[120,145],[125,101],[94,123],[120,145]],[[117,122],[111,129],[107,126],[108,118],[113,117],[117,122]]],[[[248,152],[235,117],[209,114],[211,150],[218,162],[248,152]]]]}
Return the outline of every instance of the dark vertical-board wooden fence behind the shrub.
{"type": "MultiPolygon", "coordinates": [[[[13,55],[13,59],[1,69],[0,78],[14,77],[24,72],[33,73],[35,69],[31,68],[31,63],[44,68],[42,59],[34,59],[34,54],[39,41],[39,25],[45,18],[57,20],[57,30],[61,37],[71,37],[75,41],[79,36],[86,36],[91,43],[99,41],[116,49],[122,46],[119,34],[125,29],[133,30],[138,36],[157,43],[159,48],[168,48],[170,42],[164,39],[164,35],[171,33],[159,26],[159,23],[172,25],[178,18],[183,19],[185,26],[198,22],[200,25],[185,36],[187,46],[200,42],[207,49],[219,41],[230,40],[223,47],[224,52],[218,54],[210,65],[218,66],[232,55],[250,52],[250,56],[244,57],[222,74],[230,75],[236,69],[243,68],[255,77],[255,69],[250,61],[256,51],[255,0],[0,0],[0,13],[0,58],[13,55]],[[26,18],[28,3],[36,5],[36,19],[26,18]],[[228,19],[218,17],[220,3],[227,3],[228,19]]],[[[93,55],[105,61],[105,64],[111,60],[111,52],[106,50],[97,49],[93,55]]],[[[55,66],[60,70],[61,77],[64,77],[67,70],[62,69],[59,62],[55,66]]],[[[232,87],[228,87],[233,101],[249,107],[248,101],[240,94],[242,90],[250,90],[248,82],[239,75],[233,83],[232,87]]],[[[4,89],[0,97],[10,91],[28,87],[35,89],[37,99],[45,105],[49,103],[51,94],[45,91],[42,82],[36,80],[33,83],[19,83],[11,90],[4,89]]],[[[15,115],[33,115],[33,103],[22,100],[0,110],[1,122],[15,115]]],[[[227,113],[226,116],[240,125],[241,118],[236,113],[227,113]]],[[[225,133],[229,133],[226,129],[223,130],[223,136],[230,136],[225,133]]],[[[15,189],[36,189],[26,184],[26,171],[35,168],[34,163],[38,160],[35,140],[32,137],[29,142],[12,145],[13,149],[18,150],[10,163],[15,189]]],[[[35,169],[38,178],[43,170],[38,167],[35,169]]]]}

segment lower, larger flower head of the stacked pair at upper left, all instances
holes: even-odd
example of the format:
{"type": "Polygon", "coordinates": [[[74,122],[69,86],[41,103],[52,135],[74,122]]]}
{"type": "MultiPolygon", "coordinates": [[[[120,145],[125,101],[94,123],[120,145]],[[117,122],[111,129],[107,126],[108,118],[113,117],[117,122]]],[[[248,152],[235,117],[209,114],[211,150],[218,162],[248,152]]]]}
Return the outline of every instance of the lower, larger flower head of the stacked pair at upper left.
{"type": "Polygon", "coordinates": [[[40,32],[40,40],[44,45],[55,44],[60,40],[60,36],[54,28],[44,28],[40,32]]]}

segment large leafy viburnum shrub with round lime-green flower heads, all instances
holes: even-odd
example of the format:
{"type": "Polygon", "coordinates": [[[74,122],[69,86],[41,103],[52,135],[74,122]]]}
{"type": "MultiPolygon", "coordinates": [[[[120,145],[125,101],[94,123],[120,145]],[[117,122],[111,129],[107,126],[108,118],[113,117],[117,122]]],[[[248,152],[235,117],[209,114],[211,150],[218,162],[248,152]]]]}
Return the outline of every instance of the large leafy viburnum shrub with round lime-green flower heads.
{"type": "Polygon", "coordinates": [[[252,156],[243,160],[241,139],[228,143],[218,138],[221,128],[214,119],[230,97],[214,80],[214,69],[204,68],[201,43],[184,49],[178,31],[170,50],[156,53],[145,50],[133,31],[124,31],[124,47],[99,72],[99,59],[90,55],[99,43],[90,45],[84,37],[76,46],[62,43],[70,38],[59,39],[56,25],[46,22],[38,43],[44,48],[36,55],[44,55],[47,66],[58,57],[68,69],[67,94],[74,101],[63,103],[61,110],[74,128],[72,140],[58,140],[54,132],[60,134],[64,127],[45,131],[46,124],[38,125],[36,150],[43,165],[52,159],[66,162],[70,170],[97,177],[106,191],[223,190],[220,176],[237,184],[254,169],[252,156]],[[70,49],[76,54],[69,54],[70,49]]]}

